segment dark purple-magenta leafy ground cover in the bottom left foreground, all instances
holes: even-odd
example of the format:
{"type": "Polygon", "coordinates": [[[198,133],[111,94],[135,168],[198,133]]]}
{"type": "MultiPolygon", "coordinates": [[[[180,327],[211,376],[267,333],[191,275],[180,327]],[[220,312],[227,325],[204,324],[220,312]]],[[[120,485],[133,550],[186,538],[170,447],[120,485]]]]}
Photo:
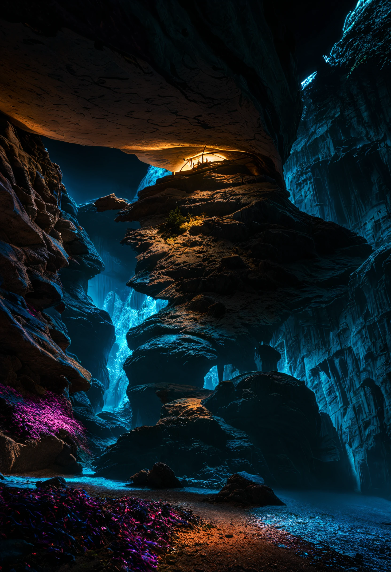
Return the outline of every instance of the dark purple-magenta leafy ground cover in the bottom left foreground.
{"type": "MultiPolygon", "coordinates": [[[[22,557],[23,570],[53,570],[87,553],[106,570],[151,572],[157,570],[157,553],[169,550],[174,529],[193,522],[191,513],[130,496],[106,499],[74,488],[0,487],[0,538],[33,545],[22,557]]],[[[17,564],[10,566],[19,570],[17,564]]]]}

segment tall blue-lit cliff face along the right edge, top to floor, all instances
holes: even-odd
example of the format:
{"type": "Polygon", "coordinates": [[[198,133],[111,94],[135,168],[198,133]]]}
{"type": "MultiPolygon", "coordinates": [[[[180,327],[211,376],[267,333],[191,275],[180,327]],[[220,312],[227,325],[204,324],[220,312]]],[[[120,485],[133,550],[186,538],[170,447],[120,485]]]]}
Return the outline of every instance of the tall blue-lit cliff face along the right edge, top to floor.
{"type": "Polygon", "coordinates": [[[352,273],[348,292],[290,317],[272,341],[280,368],[306,379],[332,417],[356,487],[377,494],[389,494],[391,482],[389,18],[381,1],[350,14],[328,63],[304,89],[284,166],[294,204],[358,232],[376,250],[352,273]]]}

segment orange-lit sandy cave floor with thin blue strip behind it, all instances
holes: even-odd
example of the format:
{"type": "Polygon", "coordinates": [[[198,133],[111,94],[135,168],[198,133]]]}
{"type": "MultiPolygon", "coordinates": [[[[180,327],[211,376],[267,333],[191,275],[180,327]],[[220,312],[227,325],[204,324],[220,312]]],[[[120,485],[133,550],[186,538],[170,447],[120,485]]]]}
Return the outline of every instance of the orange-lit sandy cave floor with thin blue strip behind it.
{"type": "MultiPolygon", "coordinates": [[[[33,484],[34,480],[43,476],[40,473],[30,474],[29,482],[33,484]]],[[[49,476],[54,475],[46,472],[45,477],[49,476]]],[[[70,477],[63,476],[66,479],[70,477]]],[[[207,502],[209,494],[216,491],[201,492],[194,488],[129,488],[124,483],[107,481],[106,485],[105,479],[78,479],[76,475],[69,480],[71,486],[84,488],[91,495],[110,498],[129,495],[152,501],[161,500],[191,510],[201,517],[200,525],[193,530],[178,531],[173,549],[159,557],[159,572],[379,570],[377,567],[362,565],[356,558],[305,541],[278,526],[265,523],[257,516],[254,507],[244,509],[230,505],[211,505],[207,502]],[[117,483],[117,486],[113,486],[113,483],[117,483]]],[[[18,486],[16,482],[15,485],[18,486]]],[[[274,507],[268,507],[272,508],[274,507]]]]}

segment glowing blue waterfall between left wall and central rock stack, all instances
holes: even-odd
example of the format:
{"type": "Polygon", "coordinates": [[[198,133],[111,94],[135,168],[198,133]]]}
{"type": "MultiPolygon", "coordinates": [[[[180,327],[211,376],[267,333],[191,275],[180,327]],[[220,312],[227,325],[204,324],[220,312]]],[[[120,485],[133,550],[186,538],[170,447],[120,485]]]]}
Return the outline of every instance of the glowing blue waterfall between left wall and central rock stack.
{"type": "Polygon", "coordinates": [[[155,300],[150,296],[135,292],[133,288],[125,301],[115,292],[107,294],[103,309],[109,312],[113,320],[116,340],[107,362],[110,386],[105,393],[104,408],[106,410],[114,410],[127,399],[126,388],[129,382],[122,366],[132,352],[127,347],[126,333],[167,304],[167,300],[155,300]]]}

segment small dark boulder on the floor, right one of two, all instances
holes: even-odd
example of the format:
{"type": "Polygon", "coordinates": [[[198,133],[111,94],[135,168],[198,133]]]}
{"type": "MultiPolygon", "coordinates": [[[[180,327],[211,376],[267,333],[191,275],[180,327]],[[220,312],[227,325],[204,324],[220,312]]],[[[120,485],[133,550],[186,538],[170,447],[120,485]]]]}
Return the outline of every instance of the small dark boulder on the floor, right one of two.
{"type": "Polygon", "coordinates": [[[242,506],[285,506],[285,503],[280,501],[274,494],[272,488],[267,487],[266,484],[260,484],[257,481],[246,479],[237,473],[229,477],[225,487],[223,487],[216,496],[210,499],[209,502],[224,502],[242,506]]]}

